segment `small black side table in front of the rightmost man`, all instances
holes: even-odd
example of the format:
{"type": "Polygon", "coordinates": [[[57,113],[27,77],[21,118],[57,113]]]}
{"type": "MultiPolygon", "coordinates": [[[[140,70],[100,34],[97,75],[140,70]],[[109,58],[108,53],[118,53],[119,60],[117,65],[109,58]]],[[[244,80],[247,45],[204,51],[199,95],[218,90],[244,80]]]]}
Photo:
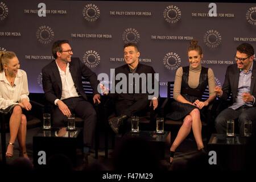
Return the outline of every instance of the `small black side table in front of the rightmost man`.
{"type": "Polygon", "coordinates": [[[254,137],[240,135],[212,134],[208,142],[208,151],[216,151],[217,166],[222,170],[251,169],[256,161],[255,148],[254,137]]]}

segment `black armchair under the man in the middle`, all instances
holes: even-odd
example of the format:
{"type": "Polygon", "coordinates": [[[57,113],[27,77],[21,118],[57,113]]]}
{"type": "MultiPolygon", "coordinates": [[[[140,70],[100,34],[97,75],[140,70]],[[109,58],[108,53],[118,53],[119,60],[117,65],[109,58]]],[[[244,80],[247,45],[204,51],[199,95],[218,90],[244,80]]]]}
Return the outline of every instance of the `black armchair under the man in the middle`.
{"type": "MultiPolygon", "coordinates": [[[[109,119],[115,117],[115,105],[113,98],[104,96],[104,124],[105,124],[105,158],[108,158],[109,137],[112,137],[112,146],[114,147],[115,135],[109,125],[109,119]],[[110,134],[110,136],[109,136],[110,134]]],[[[156,112],[152,106],[148,106],[146,111],[139,113],[139,130],[155,130],[156,112]]],[[[124,134],[124,133],[122,133],[124,134]]],[[[121,134],[121,135],[122,135],[121,134]]]]}

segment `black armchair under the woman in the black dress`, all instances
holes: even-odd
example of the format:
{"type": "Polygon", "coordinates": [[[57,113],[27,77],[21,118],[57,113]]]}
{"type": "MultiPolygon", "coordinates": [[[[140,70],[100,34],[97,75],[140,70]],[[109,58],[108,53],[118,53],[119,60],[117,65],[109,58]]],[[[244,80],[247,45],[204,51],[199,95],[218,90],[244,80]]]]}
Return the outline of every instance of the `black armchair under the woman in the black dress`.
{"type": "MultiPolygon", "coordinates": [[[[160,107],[160,115],[164,117],[164,129],[169,130],[172,133],[172,136],[177,135],[177,131],[179,131],[180,126],[183,124],[183,121],[173,121],[171,119],[166,118],[166,114],[170,113],[170,103],[174,101],[174,81],[168,81],[167,84],[167,98],[164,100],[162,106],[160,107]]],[[[209,98],[209,89],[205,89],[205,92],[202,96],[202,100],[207,100],[209,98]]],[[[213,101],[209,104],[207,108],[207,112],[205,113],[205,117],[201,118],[202,126],[204,127],[203,135],[210,138],[210,135],[214,132],[214,119],[216,117],[216,107],[219,107],[217,102],[213,101]]],[[[172,137],[175,138],[175,137],[172,137]]]]}

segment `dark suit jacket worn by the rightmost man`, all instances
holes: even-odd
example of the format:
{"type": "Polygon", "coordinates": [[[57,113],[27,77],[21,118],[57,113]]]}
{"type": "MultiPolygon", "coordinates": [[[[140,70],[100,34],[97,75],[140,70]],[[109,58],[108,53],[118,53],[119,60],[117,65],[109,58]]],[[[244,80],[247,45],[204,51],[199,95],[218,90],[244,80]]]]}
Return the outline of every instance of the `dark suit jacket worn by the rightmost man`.
{"type": "MultiPolygon", "coordinates": [[[[232,93],[232,102],[236,102],[239,75],[240,69],[237,68],[237,64],[229,65],[226,69],[225,81],[222,86],[223,94],[221,98],[226,100],[229,97],[229,94],[232,93]]],[[[256,98],[256,61],[253,61],[250,94],[256,98]]],[[[254,104],[254,106],[256,105],[254,104]]]]}

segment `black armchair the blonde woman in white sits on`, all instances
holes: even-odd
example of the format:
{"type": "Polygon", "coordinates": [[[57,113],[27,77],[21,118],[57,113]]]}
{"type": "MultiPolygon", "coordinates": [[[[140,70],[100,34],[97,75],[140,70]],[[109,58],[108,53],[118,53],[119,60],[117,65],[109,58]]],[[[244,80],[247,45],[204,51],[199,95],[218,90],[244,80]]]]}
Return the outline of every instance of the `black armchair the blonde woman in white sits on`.
{"type": "MultiPolygon", "coordinates": [[[[44,105],[30,101],[32,105],[32,109],[30,111],[25,111],[24,114],[27,117],[27,129],[31,129],[34,127],[39,127],[42,125],[43,121],[43,112],[44,112],[44,105]]],[[[1,115],[1,144],[2,144],[2,161],[6,163],[6,133],[9,132],[9,120],[10,114],[6,113],[5,111],[0,110],[1,115]]]]}

